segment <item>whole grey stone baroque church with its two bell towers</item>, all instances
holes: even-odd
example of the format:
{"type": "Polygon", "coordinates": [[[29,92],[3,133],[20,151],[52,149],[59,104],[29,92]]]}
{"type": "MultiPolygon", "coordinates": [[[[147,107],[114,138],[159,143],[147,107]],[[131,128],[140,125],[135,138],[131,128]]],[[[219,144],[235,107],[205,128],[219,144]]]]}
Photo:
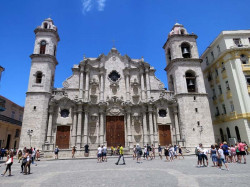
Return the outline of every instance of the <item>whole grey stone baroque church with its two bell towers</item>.
{"type": "Polygon", "coordinates": [[[174,25],[163,46],[169,90],[143,58],[122,56],[116,48],[84,57],[63,88],[54,88],[57,27],[48,18],[34,32],[20,148],[31,144],[51,156],[58,146],[68,156],[76,146],[82,156],[86,144],[90,150],[122,144],[127,152],[137,143],[180,144],[188,152],[200,142],[214,143],[197,36],[183,25],[174,25]]]}

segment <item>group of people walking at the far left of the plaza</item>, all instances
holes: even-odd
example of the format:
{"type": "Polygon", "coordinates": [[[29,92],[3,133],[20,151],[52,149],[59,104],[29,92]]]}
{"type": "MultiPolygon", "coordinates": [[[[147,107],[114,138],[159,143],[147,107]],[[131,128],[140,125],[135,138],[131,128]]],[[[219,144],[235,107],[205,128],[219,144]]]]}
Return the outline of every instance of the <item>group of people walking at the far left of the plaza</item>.
{"type": "MultiPolygon", "coordinates": [[[[1,156],[3,153],[3,149],[1,150],[1,156]]],[[[21,163],[21,172],[24,175],[30,174],[30,165],[35,164],[35,160],[38,161],[40,158],[40,151],[36,150],[36,148],[27,149],[26,147],[23,150],[19,150],[18,153],[14,152],[12,149],[4,150],[4,155],[6,156],[6,169],[1,174],[1,176],[5,176],[5,174],[9,171],[9,175],[11,176],[11,166],[14,161],[14,156],[17,156],[18,163],[21,163]]],[[[3,157],[2,157],[3,159],[3,157]]],[[[35,164],[36,165],[36,164],[35,164]]]]}

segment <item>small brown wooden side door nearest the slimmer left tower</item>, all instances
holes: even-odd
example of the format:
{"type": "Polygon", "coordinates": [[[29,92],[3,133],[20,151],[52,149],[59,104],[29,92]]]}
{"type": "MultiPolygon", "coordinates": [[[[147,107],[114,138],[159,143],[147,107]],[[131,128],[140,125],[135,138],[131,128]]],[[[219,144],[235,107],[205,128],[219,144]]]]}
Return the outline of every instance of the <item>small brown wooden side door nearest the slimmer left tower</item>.
{"type": "Polygon", "coordinates": [[[58,126],[56,145],[59,149],[69,149],[70,126],[58,126]]]}

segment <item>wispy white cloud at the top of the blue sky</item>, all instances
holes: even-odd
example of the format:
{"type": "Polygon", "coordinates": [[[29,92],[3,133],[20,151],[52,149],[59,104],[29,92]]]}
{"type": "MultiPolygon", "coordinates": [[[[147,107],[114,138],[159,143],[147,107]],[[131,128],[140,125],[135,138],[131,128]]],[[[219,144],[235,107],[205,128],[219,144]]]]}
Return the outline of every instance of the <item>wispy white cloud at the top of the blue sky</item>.
{"type": "Polygon", "coordinates": [[[96,7],[98,11],[103,11],[105,4],[106,0],[82,0],[82,13],[86,14],[94,7],[96,7]]]}

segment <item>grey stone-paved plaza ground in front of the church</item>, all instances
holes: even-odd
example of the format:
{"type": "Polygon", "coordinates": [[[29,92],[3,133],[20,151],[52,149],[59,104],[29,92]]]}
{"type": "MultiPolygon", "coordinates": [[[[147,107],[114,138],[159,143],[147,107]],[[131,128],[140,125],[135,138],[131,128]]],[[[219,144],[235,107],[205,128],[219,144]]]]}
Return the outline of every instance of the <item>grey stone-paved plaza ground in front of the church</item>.
{"type": "MultiPolygon", "coordinates": [[[[209,167],[197,168],[195,156],[174,162],[156,157],[140,164],[129,157],[126,165],[118,166],[116,161],[117,157],[103,163],[96,159],[42,160],[31,166],[30,175],[23,175],[15,160],[13,176],[1,177],[0,186],[250,186],[250,156],[247,164],[229,163],[229,171],[211,167],[211,160],[209,167]]],[[[1,172],[4,169],[1,164],[1,172]]]]}

